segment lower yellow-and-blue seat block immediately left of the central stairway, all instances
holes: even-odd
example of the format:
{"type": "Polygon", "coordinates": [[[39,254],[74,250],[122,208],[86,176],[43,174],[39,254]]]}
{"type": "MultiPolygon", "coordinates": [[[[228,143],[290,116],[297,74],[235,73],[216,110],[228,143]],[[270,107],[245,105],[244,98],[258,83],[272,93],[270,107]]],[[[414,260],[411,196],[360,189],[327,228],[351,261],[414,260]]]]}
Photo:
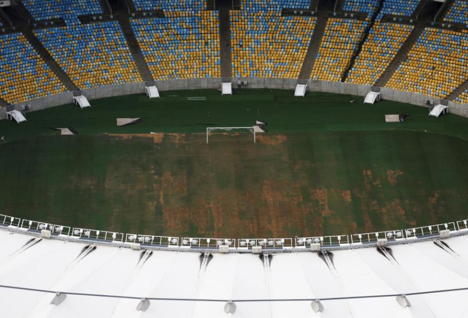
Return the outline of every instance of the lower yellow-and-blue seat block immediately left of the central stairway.
{"type": "Polygon", "coordinates": [[[135,19],[131,26],[153,78],[220,77],[216,11],[174,11],[166,18],[135,19]]]}

